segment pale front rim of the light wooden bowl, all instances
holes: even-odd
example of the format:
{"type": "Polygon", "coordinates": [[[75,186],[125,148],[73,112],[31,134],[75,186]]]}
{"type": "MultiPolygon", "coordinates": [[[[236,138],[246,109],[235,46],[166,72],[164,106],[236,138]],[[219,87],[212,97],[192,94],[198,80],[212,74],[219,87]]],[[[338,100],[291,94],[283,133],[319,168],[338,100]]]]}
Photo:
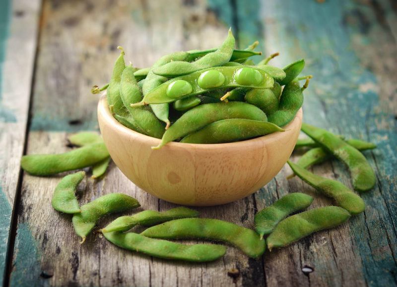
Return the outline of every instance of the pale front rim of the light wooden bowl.
{"type": "MultiPolygon", "coordinates": [[[[129,128],[127,128],[126,126],[122,125],[121,123],[119,123],[114,117],[113,115],[110,113],[109,107],[108,107],[108,103],[107,103],[107,99],[106,99],[106,93],[104,95],[101,96],[101,98],[98,101],[98,117],[99,116],[103,116],[105,118],[105,120],[112,125],[116,130],[123,132],[123,133],[127,133],[129,134],[130,137],[135,138],[137,140],[140,141],[152,141],[153,144],[158,145],[161,143],[161,139],[157,139],[157,138],[153,138],[150,136],[146,136],[144,134],[135,132],[129,128]]],[[[272,134],[268,134],[265,136],[261,136],[258,138],[254,138],[254,139],[249,139],[249,140],[244,140],[244,141],[239,141],[239,142],[233,142],[233,143],[223,143],[223,144],[189,144],[189,143],[179,143],[179,142],[170,142],[167,143],[166,145],[164,145],[163,147],[175,147],[175,148],[187,148],[187,147],[191,147],[194,149],[217,149],[217,148],[232,148],[232,147],[238,147],[244,144],[264,144],[264,141],[269,141],[271,142],[272,140],[276,140],[277,137],[282,136],[285,132],[287,132],[288,130],[292,129],[292,126],[295,124],[295,121],[299,120],[302,121],[303,118],[303,111],[302,111],[302,107],[298,110],[298,112],[295,115],[295,118],[288,123],[288,125],[286,125],[284,127],[284,132],[274,132],[272,134]]],[[[299,125],[300,126],[300,125],[299,125]]],[[[154,146],[154,145],[153,145],[154,146]]]]}

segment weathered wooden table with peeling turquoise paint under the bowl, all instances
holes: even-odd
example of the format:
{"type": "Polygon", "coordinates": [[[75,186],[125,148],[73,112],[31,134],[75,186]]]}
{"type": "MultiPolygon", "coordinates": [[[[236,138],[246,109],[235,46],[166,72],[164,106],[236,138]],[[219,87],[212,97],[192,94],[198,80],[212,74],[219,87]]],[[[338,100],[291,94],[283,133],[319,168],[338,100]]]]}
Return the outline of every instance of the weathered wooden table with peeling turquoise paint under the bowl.
{"type": "MultiPolygon", "coordinates": [[[[395,286],[396,12],[394,0],[2,0],[1,283],[395,286]],[[125,48],[127,61],[146,67],[173,51],[217,46],[229,26],[239,47],[258,39],[265,55],[280,52],[273,60],[277,66],[306,59],[304,73],[314,75],[305,93],[306,122],[378,144],[365,152],[377,174],[376,187],[362,194],[365,213],[287,248],[266,251],[259,260],[229,247],[213,263],[175,263],[119,249],[98,234],[79,245],[70,217],[50,205],[60,176],[22,173],[22,154],[63,152],[69,150],[70,133],[98,130],[98,97],[89,91],[109,80],[118,45],[125,48]],[[240,271],[235,279],[227,274],[232,268],[240,271]]],[[[338,161],[313,170],[351,186],[338,161]]],[[[202,217],[252,228],[256,211],[279,197],[298,191],[314,194],[299,179],[286,180],[289,171],[284,167],[250,197],[198,210],[202,217]]],[[[80,201],[112,192],[135,197],[143,209],[174,206],[135,187],[114,164],[103,180],[84,180],[80,201]]],[[[315,207],[331,204],[315,196],[315,207]]]]}

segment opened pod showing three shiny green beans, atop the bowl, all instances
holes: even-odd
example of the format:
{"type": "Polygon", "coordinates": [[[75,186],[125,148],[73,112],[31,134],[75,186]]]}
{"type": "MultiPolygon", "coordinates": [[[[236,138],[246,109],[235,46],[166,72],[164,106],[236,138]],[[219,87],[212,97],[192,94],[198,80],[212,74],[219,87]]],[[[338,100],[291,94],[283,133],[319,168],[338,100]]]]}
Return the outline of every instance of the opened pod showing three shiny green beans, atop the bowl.
{"type": "Polygon", "coordinates": [[[272,88],[273,84],[273,78],[256,67],[214,67],[170,79],[148,92],[140,103],[133,106],[174,102],[217,88],[267,89],[272,88]]]}

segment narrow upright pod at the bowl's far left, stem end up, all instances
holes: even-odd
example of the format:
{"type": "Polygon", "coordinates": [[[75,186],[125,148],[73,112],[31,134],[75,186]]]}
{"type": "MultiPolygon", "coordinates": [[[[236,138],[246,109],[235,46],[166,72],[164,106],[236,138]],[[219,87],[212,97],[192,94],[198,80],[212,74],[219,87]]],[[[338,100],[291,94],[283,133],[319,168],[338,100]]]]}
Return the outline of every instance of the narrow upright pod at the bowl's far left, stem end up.
{"type": "Polygon", "coordinates": [[[124,62],[124,50],[121,47],[118,47],[121,50],[120,56],[117,58],[115,66],[112,72],[112,78],[109,83],[109,87],[106,92],[106,97],[108,101],[109,108],[112,112],[118,113],[120,109],[123,109],[123,102],[120,97],[120,82],[121,75],[126,68],[126,64],[124,62]]]}

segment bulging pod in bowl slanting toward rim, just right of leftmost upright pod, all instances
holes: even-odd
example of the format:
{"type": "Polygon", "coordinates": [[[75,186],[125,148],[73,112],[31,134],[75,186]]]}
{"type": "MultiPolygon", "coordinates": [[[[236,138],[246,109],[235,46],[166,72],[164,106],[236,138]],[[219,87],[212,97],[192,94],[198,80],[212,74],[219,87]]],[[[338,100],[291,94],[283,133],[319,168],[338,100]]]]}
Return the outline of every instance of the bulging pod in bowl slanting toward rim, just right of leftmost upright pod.
{"type": "Polygon", "coordinates": [[[140,89],[133,75],[132,66],[126,67],[123,71],[120,95],[124,106],[132,115],[136,126],[138,126],[145,135],[160,139],[164,134],[164,126],[158,118],[145,107],[131,107],[131,104],[139,102],[142,99],[140,89]]]}

